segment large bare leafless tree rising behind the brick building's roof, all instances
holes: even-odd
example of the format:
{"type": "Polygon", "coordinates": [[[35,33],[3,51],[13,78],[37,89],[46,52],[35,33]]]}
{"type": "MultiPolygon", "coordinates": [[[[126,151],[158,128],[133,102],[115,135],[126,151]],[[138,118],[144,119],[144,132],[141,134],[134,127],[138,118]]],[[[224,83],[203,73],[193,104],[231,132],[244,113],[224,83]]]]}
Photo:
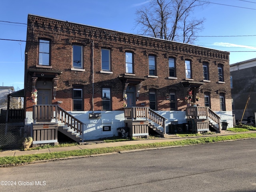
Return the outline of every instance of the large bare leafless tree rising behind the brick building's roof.
{"type": "Polygon", "coordinates": [[[143,35],[192,44],[204,22],[192,13],[204,4],[199,0],[151,0],[149,6],[136,11],[136,26],[143,35]]]}

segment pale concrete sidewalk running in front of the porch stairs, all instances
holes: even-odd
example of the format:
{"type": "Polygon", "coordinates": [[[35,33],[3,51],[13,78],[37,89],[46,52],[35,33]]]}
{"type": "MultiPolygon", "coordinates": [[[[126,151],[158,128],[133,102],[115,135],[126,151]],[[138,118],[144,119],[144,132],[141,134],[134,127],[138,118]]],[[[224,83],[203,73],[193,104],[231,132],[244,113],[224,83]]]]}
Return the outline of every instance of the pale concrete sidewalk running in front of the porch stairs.
{"type": "Polygon", "coordinates": [[[39,150],[28,150],[28,151],[3,150],[2,152],[0,152],[0,157],[32,155],[32,154],[41,154],[41,153],[52,153],[52,152],[94,149],[94,148],[105,148],[105,147],[116,147],[116,146],[124,146],[124,145],[148,144],[148,143],[158,143],[158,142],[171,142],[171,141],[180,141],[180,140],[186,140],[186,139],[196,139],[196,138],[202,138],[202,137],[216,137],[216,136],[247,134],[247,133],[256,133],[256,131],[246,131],[246,132],[237,132],[237,133],[236,132],[225,131],[225,133],[221,133],[221,134],[212,134],[212,135],[203,135],[203,136],[190,136],[190,137],[183,137],[183,138],[177,137],[175,135],[170,135],[171,137],[167,137],[167,138],[130,140],[130,141],[111,142],[111,143],[97,143],[97,142],[95,142],[95,144],[93,144],[93,142],[90,142],[92,144],[70,146],[70,147],[56,147],[56,148],[39,149],[39,150]]]}

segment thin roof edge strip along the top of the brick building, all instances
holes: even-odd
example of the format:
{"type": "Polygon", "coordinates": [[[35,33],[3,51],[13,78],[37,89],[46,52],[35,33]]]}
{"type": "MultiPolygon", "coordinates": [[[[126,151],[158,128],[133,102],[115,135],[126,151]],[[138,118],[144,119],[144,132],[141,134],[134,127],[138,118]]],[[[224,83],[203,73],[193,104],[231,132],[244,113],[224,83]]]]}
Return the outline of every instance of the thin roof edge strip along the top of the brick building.
{"type": "Polygon", "coordinates": [[[122,32],[122,31],[107,29],[107,28],[101,28],[101,27],[92,26],[92,25],[86,25],[86,24],[82,24],[82,23],[70,22],[70,21],[65,21],[65,20],[60,20],[60,19],[55,19],[55,18],[40,16],[40,15],[36,15],[36,14],[28,14],[28,15],[37,16],[37,17],[42,17],[42,18],[47,18],[47,19],[52,19],[52,20],[57,20],[57,21],[61,21],[61,22],[69,22],[69,23],[72,23],[72,24],[84,25],[84,26],[89,26],[89,27],[94,27],[94,28],[100,28],[100,29],[103,29],[103,30],[109,30],[109,31],[113,31],[113,32],[119,32],[119,33],[124,33],[124,34],[130,34],[130,35],[133,35],[133,36],[146,37],[146,38],[151,38],[151,39],[156,39],[156,40],[162,40],[162,41],[166,41],[166,42],[174,42],[174,43],[184,44],[184,45],[188,45],[188,46],[195,46],[195,47],[198,47],[198,48],[210,49],[210,50],[214,50],[214,51],[221,51],[221,52],[226,52],[227,54],[230,54],[230,52],[228,52],[228,51],[222,51],[222,50],[212,49],[212,48],[207,48],[207,47],[202,47],[202,46],[198,46],[198,45],[192,45],[192,44],[187,44],[187,43],[182,43],[182,42],[176,42],[176,41],[171,41],[171,40],[166,40],[166,39],[160,39],[160,38],[155,38],[155,37],[148,37],[148,36],[144,36],[144,35],[136,35],[136,34],[132,34],[132,33],[127,33],[127,32],[122,32]]]}

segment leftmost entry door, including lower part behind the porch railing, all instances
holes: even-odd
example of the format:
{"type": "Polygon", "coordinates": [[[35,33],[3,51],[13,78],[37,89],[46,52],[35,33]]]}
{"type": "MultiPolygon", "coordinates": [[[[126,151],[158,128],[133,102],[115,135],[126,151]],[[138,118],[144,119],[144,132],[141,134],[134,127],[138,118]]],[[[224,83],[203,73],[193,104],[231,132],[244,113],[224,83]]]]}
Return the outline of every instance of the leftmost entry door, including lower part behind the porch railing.
{"type": "Polygon", "coordinates": [[[37,104],[43,105],[38,106],[38,111],[36,114],[37,121],[51,121],[52,119],[52,90],[51,89],[38,89],[37,92],[37,104]]]}

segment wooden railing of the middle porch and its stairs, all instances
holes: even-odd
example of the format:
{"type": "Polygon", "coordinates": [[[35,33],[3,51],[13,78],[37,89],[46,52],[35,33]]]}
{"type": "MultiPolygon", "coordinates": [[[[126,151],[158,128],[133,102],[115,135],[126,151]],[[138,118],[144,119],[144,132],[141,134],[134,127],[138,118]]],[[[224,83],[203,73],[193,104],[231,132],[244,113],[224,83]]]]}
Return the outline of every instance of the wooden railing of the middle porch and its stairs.
{"type": "Polygon", "coordinates": [[[124,118],[132,120],[136,118],[146,118],[152,120],[162,126],[164,128],[164,134],[166,134],[165,120],[167,119],[149,107],[126,107],[124,108],[124,118]]]}

